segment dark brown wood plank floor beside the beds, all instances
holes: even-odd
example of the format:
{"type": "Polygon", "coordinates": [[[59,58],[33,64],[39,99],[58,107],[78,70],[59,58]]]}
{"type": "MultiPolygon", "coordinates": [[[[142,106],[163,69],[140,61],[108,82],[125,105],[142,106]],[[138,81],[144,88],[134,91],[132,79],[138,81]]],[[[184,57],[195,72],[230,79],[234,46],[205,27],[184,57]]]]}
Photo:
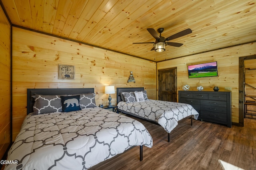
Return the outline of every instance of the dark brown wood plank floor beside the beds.
{"type": "MultiPolygon", "coordinates": [[[[141,120],[140,120],[141,121],[141,120]]],[[[256,120],[244,119],[244,127],[228,128],[210,122],[184,119],[171,132],[141,121],[153,138],[153,147],[139,146],[92,167],[95,170],[255,170],[256,120]],[[220,163],[222,162],[222,164],[220,163]],[[229,168],[226,166],[229,165],[229,168]]]]}

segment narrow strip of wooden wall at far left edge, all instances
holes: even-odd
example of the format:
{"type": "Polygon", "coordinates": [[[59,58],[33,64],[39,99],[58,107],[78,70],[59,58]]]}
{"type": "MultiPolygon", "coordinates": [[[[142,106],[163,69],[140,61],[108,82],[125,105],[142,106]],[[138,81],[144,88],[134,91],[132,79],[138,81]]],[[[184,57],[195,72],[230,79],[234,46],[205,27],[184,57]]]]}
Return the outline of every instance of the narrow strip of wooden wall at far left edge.
{"type": "Polygon", "coordinates": [[[11,136],[11,26],[0,6],[0,158],[11,136]]]}

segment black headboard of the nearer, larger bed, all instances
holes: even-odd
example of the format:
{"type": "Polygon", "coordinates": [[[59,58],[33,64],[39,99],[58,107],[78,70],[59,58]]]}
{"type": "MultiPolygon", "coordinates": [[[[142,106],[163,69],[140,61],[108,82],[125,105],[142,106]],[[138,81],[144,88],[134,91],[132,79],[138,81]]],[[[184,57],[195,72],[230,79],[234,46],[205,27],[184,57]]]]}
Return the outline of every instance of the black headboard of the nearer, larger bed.
{"type": "Polygon", "coordinates": [[[94,88],[75,89],[27,89],[27,114],[33,112],[35,94],[39,95],[74,95],[81,93],[94,93],[94,88]]]}

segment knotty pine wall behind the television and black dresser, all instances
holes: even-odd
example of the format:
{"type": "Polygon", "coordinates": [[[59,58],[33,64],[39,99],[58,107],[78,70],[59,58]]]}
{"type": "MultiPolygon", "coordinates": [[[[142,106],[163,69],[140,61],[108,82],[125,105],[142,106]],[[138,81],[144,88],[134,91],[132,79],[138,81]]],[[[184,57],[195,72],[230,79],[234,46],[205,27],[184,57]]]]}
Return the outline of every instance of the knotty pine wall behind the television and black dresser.
{"type": "MultiPolygon", "coordinates": [[[[190,85],[190,90],[196,91],[198,85],[204,87],[204,91],[213,91],[214,86],[218,86],[220,91],[224,91],[225,87],[232,88],[232,122],[239,123],[239,57],[255,55],[256,43],[248,43],[245,45],[219,49],[207,53],[191,55],[178,59],[162,61],[157,63],[157,69],[166,69],[177,67],[177,90],[182,90],[185,84],[190,85]],[[194,63],[204,63],[217,61],[218,77],[204,78],[188,78],[187,65],[194,63]]],[[[255,79],[254,79],[255,81],[255,79]]]]}

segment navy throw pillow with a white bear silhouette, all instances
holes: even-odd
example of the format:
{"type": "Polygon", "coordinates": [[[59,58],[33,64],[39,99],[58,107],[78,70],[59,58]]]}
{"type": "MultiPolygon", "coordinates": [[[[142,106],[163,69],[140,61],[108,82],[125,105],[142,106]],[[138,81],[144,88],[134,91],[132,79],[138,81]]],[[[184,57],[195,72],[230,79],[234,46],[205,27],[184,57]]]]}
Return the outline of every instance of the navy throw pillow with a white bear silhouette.
{"type": "Polygon", "coordinates": [[[62,112],[71,112],[81,110],[79,105],[80,95],[76,96],[60,96],[62,104],[62,112]]]}

